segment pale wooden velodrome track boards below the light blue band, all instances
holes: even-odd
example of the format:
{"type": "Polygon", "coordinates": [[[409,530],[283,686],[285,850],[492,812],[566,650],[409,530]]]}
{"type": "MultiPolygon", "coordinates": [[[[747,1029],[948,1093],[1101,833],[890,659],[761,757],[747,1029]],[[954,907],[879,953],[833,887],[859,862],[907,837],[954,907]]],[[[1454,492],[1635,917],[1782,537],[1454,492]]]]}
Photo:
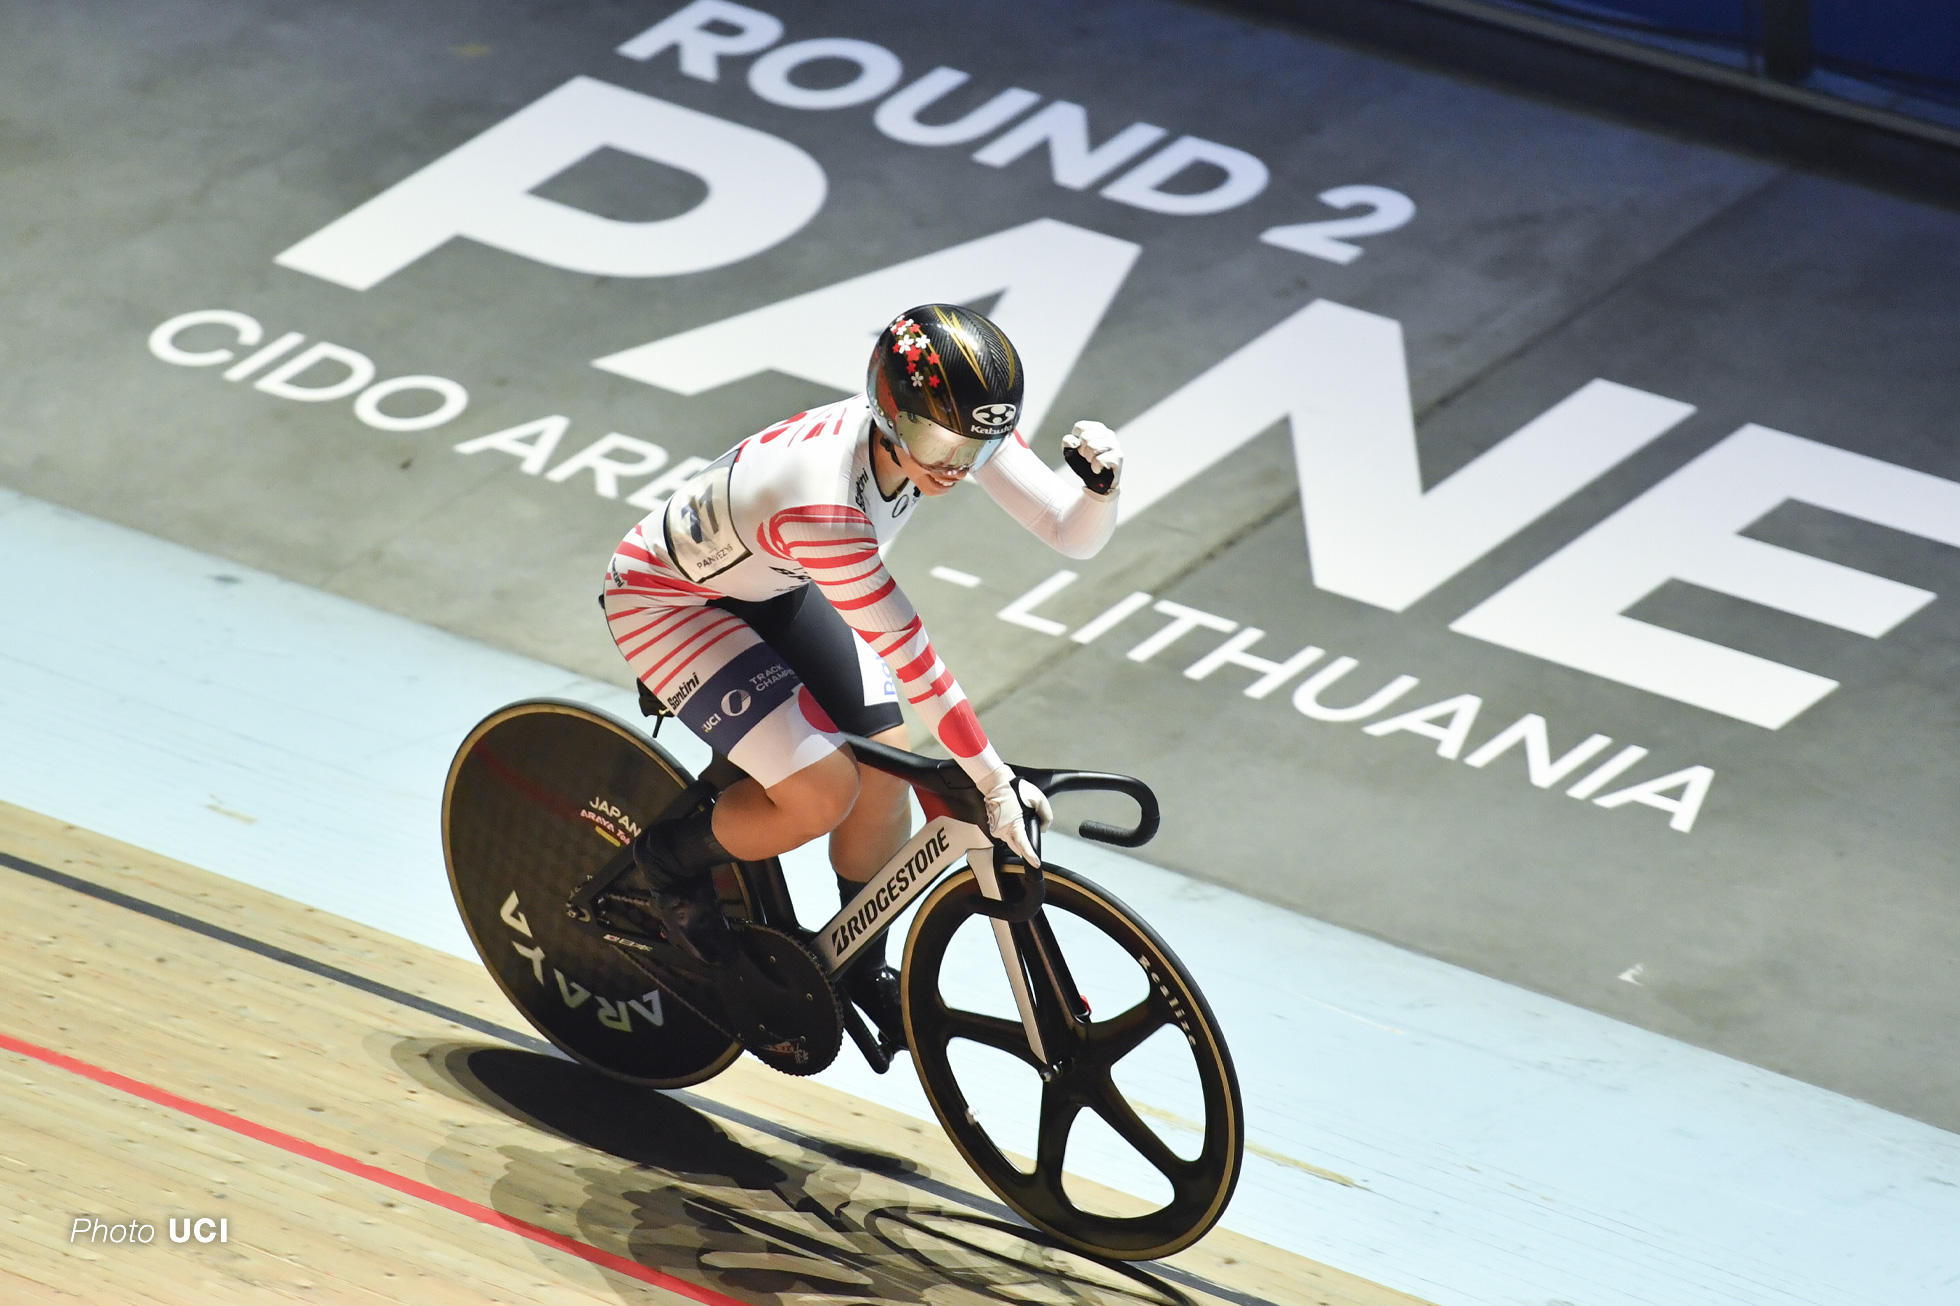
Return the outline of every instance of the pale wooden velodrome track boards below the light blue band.
{"type": "Polygon", "coordinates": [[[1231,1231],[1051,1249],[933,1126],[617,1084],[470,963],[6,804],[0,939],[6,1302],[1415,1302],[1231,1231]]]}

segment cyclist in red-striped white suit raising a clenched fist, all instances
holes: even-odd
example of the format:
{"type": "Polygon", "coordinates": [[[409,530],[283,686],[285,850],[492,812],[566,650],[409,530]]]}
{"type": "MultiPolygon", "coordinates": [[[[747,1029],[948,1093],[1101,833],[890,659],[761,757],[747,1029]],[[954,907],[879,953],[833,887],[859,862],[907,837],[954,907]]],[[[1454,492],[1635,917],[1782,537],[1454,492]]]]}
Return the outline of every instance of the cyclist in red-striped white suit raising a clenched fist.
{"type": "MultiPolygon", "coordinates": [[[[992,322],[956,304],[913,308],[878,335],[862,394],[741,441],[613,553],[602,602],[633,675],[749,775],[633,841],[661,924],[696,957],[721,963],[731,947],[715,865],[829,833],[849,902],[906,841],[904,782],[860,773],[839,737],[904,747],[900,692],[986,794],[994,837],[1039,865],[1029,824],[1047,826],[1047,798],[988,743],[880,555],[921,498],[966,477],[1068,557],[1107,543],[1115,435],[1078,422],[1062,457],[1080,484],[1058,477],[1015,431],[1021,382],[1021,359],[992,322]]],[[[845,992],[904,1041],[882,937],[845,992]]]]}

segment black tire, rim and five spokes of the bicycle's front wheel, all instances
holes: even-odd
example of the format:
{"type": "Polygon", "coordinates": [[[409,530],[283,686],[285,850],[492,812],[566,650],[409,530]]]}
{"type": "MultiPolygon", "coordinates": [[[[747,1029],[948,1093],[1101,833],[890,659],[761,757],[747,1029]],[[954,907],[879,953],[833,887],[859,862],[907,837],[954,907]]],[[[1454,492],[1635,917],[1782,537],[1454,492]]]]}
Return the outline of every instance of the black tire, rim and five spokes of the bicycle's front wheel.
{"type": "MultiPolygon", "coordinates": [[[[1043,912],[1066,912],[1088,922],[1135,959],[1149,980],[1149,994],[1129,1010],[1070,1028],[1060,1049],[1062,1067],[1045,1077],[1037,1161],[1023,1171],[994,1141],[970,1110],[951,1065],[955,1039],[972,1039],[1033,1065],[1019,1022],[980,1016],[947,1006],[939,971],[953,935],[980,918],[978,879],[970,869],[947,877],[919,906],[906,939],[904,1014],[913,1067],[933,1114],[966,1163],[1015,1214],[1062,1245],[1088,1255],[1149,1261],[1190,1247],[1219,1222],[1245,1167],[1245,1106],[1217,1018],[1196,980],[1170,947],[1135,912],[1090,880],[1043,867],[1043,912]],[[1141,1012],[1141,1016],[1139,1016],[1141,1012]],[[1192,1047],[1203,1090],[1203,1145],[1184,1161],[1147,1126],[1115,1086],[1109,1071],[1131,1049],[1164,1026],[1176,1026],[1192,1047]],[[1121,1102],[1121,1108],[1115,1108],[1121,1102]],[[1107,1108],[1107,1110],[1105,1110],[1107,1108]],[[1103,1216],[1082,1210],[1062,1186],[1068,1133],[1084,1110],[1094,1110],[1170,1182],[1172,1200],[1141,1216],[1103,1216]],[[1152,1155],[1156,1153],[1156,1155],[1152,1155]]],[[[980,918],[984,922],[984,918],[980,918]]]]}

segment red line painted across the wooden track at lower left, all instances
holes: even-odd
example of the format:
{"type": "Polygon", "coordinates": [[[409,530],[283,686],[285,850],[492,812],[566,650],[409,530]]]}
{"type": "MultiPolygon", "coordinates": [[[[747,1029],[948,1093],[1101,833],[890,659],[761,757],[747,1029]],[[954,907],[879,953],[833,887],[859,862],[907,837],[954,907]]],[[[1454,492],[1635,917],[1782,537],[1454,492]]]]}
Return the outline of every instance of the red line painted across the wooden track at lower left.
{"type": "Polygon", "coordinates": [[[98,1065],[78,1061],[67,1053],[59,1053],[51,1047],[41,1047],[39,1043],[29,1043],[25,1039],[16,1039],[10,1033],[0,1031],[0,1049],[18,1053],[22,1057],[31,1057],[43,1061],[59,1071],[69,1071],[71,1075],[80,1075],[82,1079],[92,1079],[98,1084],[116,1088],[118,1092],[127,1092],[129,1096],[143,1098],[145,1102],[155,1102],[157,1106],[167,1106],[172,1112],[182,1112],[186,1116],[196,1116],[206,1124],[214,1124],[220,1130],[231,1130],[233,1133],[243,1133],[245,1137],[257,1139],[261,1143],[270,1143],[296,1157],[306,1157],[308,1161],[318,1161],[321,1165],[331,1165],[337,1171],[367,1179],[370,1182],[382,1184],[384,1188],[394,1188],[396,1192],[421,1198],[441,1206],[443,1210],[453,1210],[459,1216],[468,1216],[478,1224],[488,1224],[498,1230],[506,1230],[519,1237],[529,1237],[533,1243],[543,1243],[557,1251],[578,1257],[580,1261],[590,1261],[600,1269],[610,1269],[615,1275],[625,1275],[629,1279],[639,1279],[657,1288],[666,1288],[704,1306],[747,1306],[739,1298],[725,1296],[713,1288],[704,1288],[692,1284],[686,1279],[674,1279],[662,1271],[641,1265],[612,1251],[604,1251],[590,1243],[582,1243],[576,1237],[566,1237],[564,1233],[555,1233],[543,1226],[531,1224],[529,1220],[517,1220],[515,1216],[506,1216],[500,1210],[492,1210],[482,1202],[472,1202],[468,1198],[459,1198],[453,1192],[443,1192],[433,1184],[425,1184],[406,1175],[396,1175],[394,1171],[384,1171],[378,1165],[368,1165],[367,1161],[355,1161],[347,1153],[333,1151],[331,1147],[321,1147],[319,1143],[308,1143],[304,1137],[294,1137],[272,1130],[270,1126],[255,1124],[243,1116],[233,1116],[231,1112],[220,1110],[216,1106],[206,1106],[204,1102],[192,1102],[190,1098],[180,1098],[169,1088],[159,1088],[155,1084],[145,1084],[139,1079],[129,1079],[127,1075],[118,1075],[116,1071],[106,1071],[98,1065]]]}

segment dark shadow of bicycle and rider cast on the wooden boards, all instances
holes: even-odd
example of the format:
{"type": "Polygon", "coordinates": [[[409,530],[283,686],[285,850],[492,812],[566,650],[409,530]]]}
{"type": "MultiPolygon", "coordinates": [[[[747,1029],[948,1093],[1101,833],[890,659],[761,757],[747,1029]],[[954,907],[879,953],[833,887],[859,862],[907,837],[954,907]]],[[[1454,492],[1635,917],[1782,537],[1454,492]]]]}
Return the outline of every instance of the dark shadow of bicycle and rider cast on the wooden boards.
{"type": "MultiPolygon", "coordinates": [[[[512,1047],[402,1039],[388,1051],[419,1082],[502,1118],[459,1124],[431,1171],[490,1175],[498,1212],[729,1296],[1194,1306],[1147,1269],[921,1192],[904,1157],[743,1141],[670,1094],[512,1047]]],[[[625,1282],[621,1296],[635,1296],[625,1282]]]]}

